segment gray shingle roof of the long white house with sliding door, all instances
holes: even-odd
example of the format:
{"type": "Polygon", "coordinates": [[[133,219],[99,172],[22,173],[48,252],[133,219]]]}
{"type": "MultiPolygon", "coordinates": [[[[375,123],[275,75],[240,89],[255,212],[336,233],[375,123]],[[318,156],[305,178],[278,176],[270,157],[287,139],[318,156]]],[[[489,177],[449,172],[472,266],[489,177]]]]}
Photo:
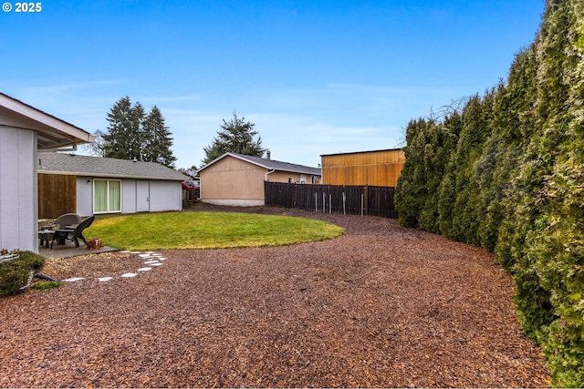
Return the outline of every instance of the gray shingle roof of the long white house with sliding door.
{"type": "Polygon", "coordinates": [[[38,153],[39,173],[131,179],[189,179],[182,173],[154,162],[98,158],[52,152],[38,153]]]}

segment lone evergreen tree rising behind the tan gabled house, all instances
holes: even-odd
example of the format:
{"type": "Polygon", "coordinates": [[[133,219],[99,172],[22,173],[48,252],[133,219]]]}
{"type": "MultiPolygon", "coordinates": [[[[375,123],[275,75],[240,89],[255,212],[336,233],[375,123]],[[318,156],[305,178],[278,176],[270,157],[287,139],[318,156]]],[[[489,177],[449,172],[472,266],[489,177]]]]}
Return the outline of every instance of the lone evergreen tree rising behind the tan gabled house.
{"type": "Polygon", "coordinates": [[[211,162],[224,155],[224,153],[232,152],[237,154],[244,154],[254,157],[261,157],[266,148],[262,148],[262,138],[254,137],[258,132],[254,130],[255,124],[245,121],[245,118],[238,118],[234,112],[234,118],[228,122],[223,119],[221,130],[217,131],[217,137],[214,138],[213,143],[205,148],[205,159],[203,165],[211,162]]]}

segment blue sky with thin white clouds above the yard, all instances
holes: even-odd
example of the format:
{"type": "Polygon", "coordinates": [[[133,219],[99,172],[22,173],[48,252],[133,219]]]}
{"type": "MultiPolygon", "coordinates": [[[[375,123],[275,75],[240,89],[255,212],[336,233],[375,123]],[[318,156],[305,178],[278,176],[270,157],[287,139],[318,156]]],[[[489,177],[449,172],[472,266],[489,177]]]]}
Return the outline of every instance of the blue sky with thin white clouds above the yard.
{"type": "MultiPolygon", "coordinates": [[[[0,12],[0,91],[93,133],[120,97],[162,110],[177,168],[222,119],[272,159],[400,146],[412,118],[506,78],[544,0],[42,1],[0,12]]],[[[4,5],[3,5],[4,7],[4,5]]]]}

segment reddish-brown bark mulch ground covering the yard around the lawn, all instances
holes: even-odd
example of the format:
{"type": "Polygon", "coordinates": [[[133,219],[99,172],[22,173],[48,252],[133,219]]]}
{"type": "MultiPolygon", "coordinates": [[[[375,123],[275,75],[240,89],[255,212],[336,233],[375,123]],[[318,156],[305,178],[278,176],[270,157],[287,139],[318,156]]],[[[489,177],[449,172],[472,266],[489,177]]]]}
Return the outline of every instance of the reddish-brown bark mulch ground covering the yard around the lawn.
{"type": "Polygon", "coordinates": [[[0,386],[549,385],[493,255],[396,220],[245,211],[329,220],[346,233],[159,251],[163,266],[134,278],[120,274],[143,266],[137,254],[50,260],[48,275],[86,279],[0,300],[0,386]]]}

